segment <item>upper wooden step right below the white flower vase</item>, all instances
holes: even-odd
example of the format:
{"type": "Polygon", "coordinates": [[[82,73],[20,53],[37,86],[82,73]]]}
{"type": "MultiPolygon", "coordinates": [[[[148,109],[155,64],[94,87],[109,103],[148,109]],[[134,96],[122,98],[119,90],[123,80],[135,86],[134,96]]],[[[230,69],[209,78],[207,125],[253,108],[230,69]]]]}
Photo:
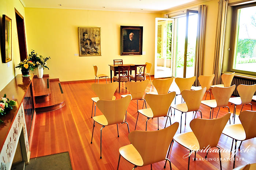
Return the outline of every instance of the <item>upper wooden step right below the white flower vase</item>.
{"type": "Polygon", "coordinates": [[[49,86],[49,75],[43,75],[43,78],[39,79],[34,76],[34,90],[35,90],[35,102],[46,102],[49,101],[50,86],[49,86]]]}

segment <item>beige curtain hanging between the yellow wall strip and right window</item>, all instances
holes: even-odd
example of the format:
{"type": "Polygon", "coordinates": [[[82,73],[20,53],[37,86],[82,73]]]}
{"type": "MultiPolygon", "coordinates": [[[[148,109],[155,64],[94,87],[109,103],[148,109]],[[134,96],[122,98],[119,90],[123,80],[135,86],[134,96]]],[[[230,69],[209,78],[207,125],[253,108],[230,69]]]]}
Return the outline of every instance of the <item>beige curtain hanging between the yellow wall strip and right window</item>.
{"type": "Polygon", "coordinates": [[[221,84],[221,71],[224,54],[224,42],[226,31],[227,4],[228,0],[219,0],[218,18],[215,37],[214,68],[215,78],[213,84],[221,84]]]}

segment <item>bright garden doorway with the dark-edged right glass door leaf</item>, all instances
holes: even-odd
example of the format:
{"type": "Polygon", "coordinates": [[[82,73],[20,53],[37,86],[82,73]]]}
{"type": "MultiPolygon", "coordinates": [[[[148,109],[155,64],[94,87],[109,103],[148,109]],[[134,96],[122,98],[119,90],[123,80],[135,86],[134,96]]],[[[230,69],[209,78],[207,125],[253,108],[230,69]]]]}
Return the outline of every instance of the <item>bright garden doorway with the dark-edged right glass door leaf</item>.
{"type": "Polygon", "coordinates": [[[186,15],[175,18],[174,77],[190,78],[195,74],[197,13],[187,10],[186,15]]]}

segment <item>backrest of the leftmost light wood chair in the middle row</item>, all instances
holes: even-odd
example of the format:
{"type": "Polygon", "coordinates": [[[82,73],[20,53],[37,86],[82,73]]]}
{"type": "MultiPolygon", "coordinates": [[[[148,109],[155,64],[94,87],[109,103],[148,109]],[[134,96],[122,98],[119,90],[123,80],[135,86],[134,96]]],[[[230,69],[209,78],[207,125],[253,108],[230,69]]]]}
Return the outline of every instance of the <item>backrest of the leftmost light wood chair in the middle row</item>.
{"type": "Polygon", "coordinates": [[[108,125],[124,122],[124,115],[131,101],[131,96],[126,96],[118,100],[99,100],[96,105],[104,114],[108,125]]]}

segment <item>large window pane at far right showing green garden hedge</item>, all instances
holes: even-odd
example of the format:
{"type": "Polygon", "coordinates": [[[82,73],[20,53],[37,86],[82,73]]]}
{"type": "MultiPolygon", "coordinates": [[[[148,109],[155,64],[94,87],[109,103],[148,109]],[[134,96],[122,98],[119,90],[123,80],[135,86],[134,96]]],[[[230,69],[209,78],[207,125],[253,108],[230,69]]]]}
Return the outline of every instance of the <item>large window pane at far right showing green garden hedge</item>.
{"type": "Polygon", "coordinates": [[[256,6],[237,11],[233,69],[256,72],[256,6]]]}

